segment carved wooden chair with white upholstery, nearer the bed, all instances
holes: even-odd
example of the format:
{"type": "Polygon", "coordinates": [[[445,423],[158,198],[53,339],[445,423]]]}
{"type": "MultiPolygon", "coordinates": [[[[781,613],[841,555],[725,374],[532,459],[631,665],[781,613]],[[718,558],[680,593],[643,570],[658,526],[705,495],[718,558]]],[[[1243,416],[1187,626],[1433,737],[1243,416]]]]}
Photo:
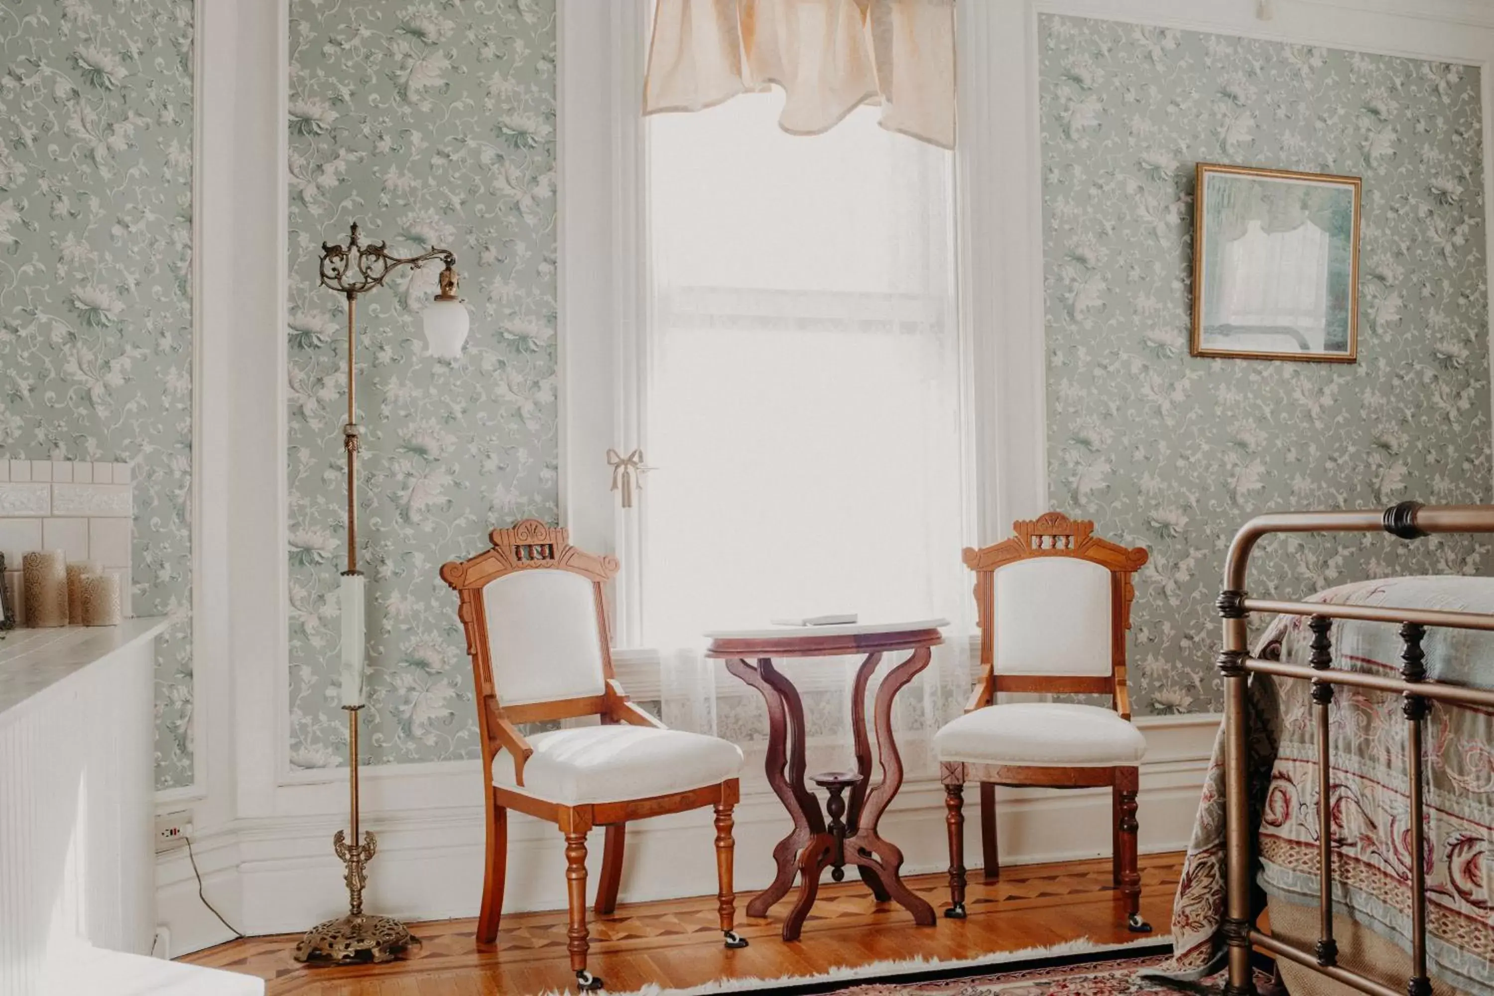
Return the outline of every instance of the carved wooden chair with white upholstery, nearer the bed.
{"type": "Polygon", "coordinates": [[[1092,536],[1094,523],[1047,512],[1014,523],[1016,536],[965,550],[976,572],[982,675],[965,715],[934,736],[949,824],[950,908],[965,915],[965,782],[980,784],[980,841],[986,880],[1001,875],[996,785],[1112,791],[1112,877],[1126,926],[1144,933],[1137,871],[1137,765],[1146,738],[1131,724],[1125,641],[1131,575],[1147,560],[1092,536]],[[1001,691],[1104,694],[1110,706],[1062,702],[995,705],[1001,691]]]}

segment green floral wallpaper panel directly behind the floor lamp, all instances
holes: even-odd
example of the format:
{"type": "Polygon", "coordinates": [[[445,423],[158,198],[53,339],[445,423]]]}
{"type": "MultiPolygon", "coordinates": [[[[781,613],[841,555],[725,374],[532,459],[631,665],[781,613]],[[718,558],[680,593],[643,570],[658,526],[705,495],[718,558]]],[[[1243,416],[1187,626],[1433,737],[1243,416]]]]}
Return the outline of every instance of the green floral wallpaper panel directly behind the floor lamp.
{"type": "Polygon", "coordinates": [[[487,532],[559,517],[553,0],[290,3],[290,760],[345,763],[345,305],[323,240],[457,254],[472,333],[432,360],[436,266],[359,300],[365,760],[481,754],[456,600],[436,570],[487,532]]]}

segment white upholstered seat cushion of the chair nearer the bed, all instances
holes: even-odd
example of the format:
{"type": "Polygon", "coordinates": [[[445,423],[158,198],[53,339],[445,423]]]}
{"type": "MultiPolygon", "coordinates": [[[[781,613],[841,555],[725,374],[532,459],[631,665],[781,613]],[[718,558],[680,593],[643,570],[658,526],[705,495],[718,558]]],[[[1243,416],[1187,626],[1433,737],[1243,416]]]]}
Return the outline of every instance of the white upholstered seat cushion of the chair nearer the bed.
{"type": "Polygon", "coordinates": [[[1135,765],[1146,738],[1113,709],[1070,702],[1011,702],[967,712],[934,735],[941,762],[1023,768],[1135,765]]]}

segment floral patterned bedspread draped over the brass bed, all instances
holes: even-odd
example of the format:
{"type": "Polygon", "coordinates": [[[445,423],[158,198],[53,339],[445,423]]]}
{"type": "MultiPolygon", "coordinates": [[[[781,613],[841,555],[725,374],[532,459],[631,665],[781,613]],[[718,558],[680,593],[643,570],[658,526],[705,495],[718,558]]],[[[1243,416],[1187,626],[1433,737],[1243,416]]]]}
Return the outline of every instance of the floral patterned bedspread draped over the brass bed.
{"type": "MultiPolygon", "coordinates": [[[[1331,588],[1330,603],[1494,612],[1494,578],[1392,578],[1331,588]]],[[[1303,617],[1280,617],[1256,656],[1307,663],[1303,617]]],[[[1494,687],[1494,635],[1428,630],[1428,678],[1494,687]]],[[[1334,666],[1398,675],[1398,627],[1340,621],[1334,666]]],[[[1255,675],[1250,711],[1252,914],[1268,897],[1318,903],[1318,762],[1303,681],[1255,675]]],[[[1400,699],[1337,687],[1330,706],[1334,909],[1410,950],[1410,827],[1406,721],[1400,699]]],[[[1427,953],[1433,977],[1494,992],[1494,712],[1433,705],[1427,772],[1427,953]]],[[[1173,905],[1174,978],[1200,978],[1224,957],[1224,739],[1215,742],[1173,905]]]]}

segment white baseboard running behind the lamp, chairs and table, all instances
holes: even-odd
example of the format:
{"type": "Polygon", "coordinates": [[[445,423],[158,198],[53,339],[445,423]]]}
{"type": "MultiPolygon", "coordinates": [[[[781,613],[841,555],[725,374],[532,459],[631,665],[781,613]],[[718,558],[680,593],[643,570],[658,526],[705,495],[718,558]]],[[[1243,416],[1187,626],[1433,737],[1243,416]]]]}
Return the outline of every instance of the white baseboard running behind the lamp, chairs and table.
{"type": "MultiPolygon", "coordinates": [[[[1141,720],[1147,760],[1141,765],[1141,850],[1188,845],[1198,793],[1219,717],[1141,720]]],[[[477,794],[477,791],[474,791],[477,794]]],[[[406,921],[477,915],[481,897],[484,823],[480,796],[472,805],[382,809],[366,814],[378,835],[365,905],[406,921]]],[[[1098,857],[1110,853],[1110,791],[1001,790],[1002,863],[1023,865],[1098,857]]],[[[967,799],[971,826],[977,806],[967,799]]],[[[342,865],[332,856],[341,818],[276,817],[241,820],[194,841],[208,899],[248,935],[290,933],[347,912],[342,865]]],[[[790,824],[766,787],[746,791],[737,808],[737,888],[756,891],[772,880],[772,847],[790,824]]],[[[904,872],[949,865],[944,791],[937,779],[910,781],[883,817],[887,839],[902,848],[904,872]]],[[[713,893],[716,857],[708,809],[657,817],[629,827],[620,897],[644,902],[713,893]]],[[[967,865],[980,865],[979,836],[967,833],[967,865]]],[[[505,911],[565,905],[565,862],[557,832],[527,817],[509,824],[505,911]]],[[[590,868],[601,866],[601,833],[593,835],[590,868]]],[[[160,920],[172,930],[172,954],[229,939],[197,899],[185,848],[160,856],[160,920]]]]}

